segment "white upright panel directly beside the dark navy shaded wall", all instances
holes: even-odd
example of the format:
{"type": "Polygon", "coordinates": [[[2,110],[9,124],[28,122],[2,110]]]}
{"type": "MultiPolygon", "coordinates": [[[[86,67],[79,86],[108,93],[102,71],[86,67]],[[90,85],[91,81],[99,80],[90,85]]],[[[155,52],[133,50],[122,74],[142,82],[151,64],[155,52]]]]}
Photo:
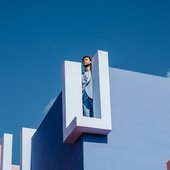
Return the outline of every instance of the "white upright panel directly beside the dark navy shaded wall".
{"type": "Polygon", "coordinates": [[[21,129],[21,170],[31,170],[31,139],[36,129],[21,129]]]}

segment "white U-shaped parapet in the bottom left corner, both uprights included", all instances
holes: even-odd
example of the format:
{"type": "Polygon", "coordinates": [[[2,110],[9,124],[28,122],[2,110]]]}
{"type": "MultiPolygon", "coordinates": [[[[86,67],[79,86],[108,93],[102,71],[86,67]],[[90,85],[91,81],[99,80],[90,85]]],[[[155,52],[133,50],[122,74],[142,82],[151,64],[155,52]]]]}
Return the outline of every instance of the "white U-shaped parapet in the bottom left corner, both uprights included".
{"type": "Polygon", "coordinates": [[[21,130],[21,168],[12,165],[12,134],[4,134],[0,139],[0,170],[31,170],[31,139],[36,129],[21,130]]]}

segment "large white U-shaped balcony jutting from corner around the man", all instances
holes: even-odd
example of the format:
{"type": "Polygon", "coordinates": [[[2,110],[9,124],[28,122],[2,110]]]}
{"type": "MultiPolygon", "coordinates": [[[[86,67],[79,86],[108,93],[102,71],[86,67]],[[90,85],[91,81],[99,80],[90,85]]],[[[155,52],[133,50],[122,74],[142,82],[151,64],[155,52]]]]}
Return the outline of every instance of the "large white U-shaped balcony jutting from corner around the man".
{"type": "Polygon", "coordinates": [[[93,109],[95,117],[83,116],[81,63],[63,65],[63,141],[74,143],[82,133],[107,135],[112,129],[108,52],[92,58],[93,109]]]}

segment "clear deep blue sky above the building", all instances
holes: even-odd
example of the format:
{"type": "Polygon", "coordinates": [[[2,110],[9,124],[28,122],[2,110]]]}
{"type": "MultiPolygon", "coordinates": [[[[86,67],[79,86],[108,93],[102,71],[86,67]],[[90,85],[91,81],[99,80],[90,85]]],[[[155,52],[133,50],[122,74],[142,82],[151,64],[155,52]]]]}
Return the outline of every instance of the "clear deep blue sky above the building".
{"type": "Polygon", "coordinates": [[[0,136],[37,128],[61,91],[64,60],[109,52],[110,67],[165,76],[170,1],[0,1],[0,136]]]}

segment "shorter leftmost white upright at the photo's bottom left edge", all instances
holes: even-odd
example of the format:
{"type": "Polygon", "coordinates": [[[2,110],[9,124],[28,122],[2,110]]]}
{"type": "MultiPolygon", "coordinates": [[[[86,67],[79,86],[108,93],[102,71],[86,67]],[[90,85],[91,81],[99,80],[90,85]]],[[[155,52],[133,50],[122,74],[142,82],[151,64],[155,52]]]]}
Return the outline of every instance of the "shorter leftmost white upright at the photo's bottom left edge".
{"type": "Polygon", "coordinates": [[[11,170],[12,163],[12,134],[4,134],[1,138],[0,170],[11,170]]]}

